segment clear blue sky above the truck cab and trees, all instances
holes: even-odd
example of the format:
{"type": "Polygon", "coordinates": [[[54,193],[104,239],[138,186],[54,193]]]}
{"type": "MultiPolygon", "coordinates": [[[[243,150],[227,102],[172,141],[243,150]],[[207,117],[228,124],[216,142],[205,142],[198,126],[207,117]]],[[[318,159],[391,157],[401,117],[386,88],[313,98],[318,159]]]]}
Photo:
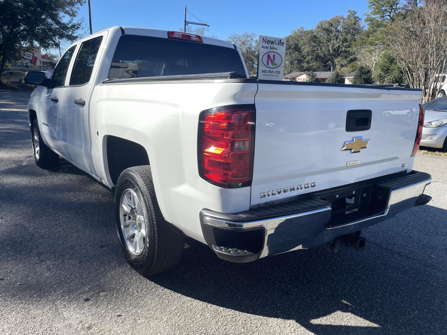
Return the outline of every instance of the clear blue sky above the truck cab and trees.
{"type": "MultiPolygon", "coordinates": [[[[356,10],[362,18],[367,10],[367,0],[91,0],[93,32],[114,25],[178,30],[183,27],[185,4],[191,13],[211,25],[207,34],[220,39],[243,32],[284,37],[301,26],[310,29],[321,20],[346,15],[348,9],[356,10]]],[[[87,4],[79,14],[84,17],[87,35],[87,4]]],[[[187,19],[197,21],[190,14],[187,19]]],[[[65,50],[68,45],[61,48],[65,50]]]]}

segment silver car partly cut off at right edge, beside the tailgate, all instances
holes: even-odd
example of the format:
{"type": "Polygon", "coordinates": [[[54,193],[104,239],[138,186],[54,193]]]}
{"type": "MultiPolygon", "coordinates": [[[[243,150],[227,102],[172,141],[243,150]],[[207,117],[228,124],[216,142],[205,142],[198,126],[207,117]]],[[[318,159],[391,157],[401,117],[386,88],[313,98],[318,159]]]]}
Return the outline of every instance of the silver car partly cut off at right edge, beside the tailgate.
{"type": "Polygon", "coordinates": [[[421,146],[447,151],[447,96],[426,102],[421,146]]]}

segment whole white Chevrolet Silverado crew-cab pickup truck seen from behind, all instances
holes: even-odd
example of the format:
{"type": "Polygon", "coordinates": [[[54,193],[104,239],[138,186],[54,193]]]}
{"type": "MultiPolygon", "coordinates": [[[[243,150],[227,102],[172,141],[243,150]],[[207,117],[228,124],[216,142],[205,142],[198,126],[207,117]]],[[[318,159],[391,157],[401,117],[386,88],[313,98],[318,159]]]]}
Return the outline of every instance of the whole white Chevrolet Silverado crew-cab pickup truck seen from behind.
{"type": "Polygon", "coordinates": [[[62,157],[111,189],[144,275],[176,264],[185,236],[232,262],[360,249],[360,230],[431,199],[412,170],[418,89],[249,79],[233,43],[130,27],[26,81],[37,165],[62,157]]]}

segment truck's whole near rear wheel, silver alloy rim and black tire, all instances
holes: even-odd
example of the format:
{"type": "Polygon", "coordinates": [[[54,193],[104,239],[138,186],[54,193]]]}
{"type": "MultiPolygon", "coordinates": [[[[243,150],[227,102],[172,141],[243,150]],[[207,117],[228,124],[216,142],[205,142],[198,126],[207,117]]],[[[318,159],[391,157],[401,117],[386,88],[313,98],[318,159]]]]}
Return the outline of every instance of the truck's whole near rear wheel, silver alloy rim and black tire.
{"type": "Polygon", "coordinates": [[[143,276],[172,268],[185,247],[161,214],[149,166],[124,170],[115,187],[115,218],[128,263],[143,276]]]}

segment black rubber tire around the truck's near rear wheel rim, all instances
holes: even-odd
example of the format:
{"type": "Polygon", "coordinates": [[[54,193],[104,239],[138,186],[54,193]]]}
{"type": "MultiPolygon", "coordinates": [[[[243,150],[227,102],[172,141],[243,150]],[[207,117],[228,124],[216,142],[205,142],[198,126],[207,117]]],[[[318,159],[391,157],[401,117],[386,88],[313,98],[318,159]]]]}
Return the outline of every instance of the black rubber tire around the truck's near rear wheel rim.
{"type": "Polygon", "coordinates": [[[185,247],[183,236],[161,214],[148,165],[130,167],[119,176],[115,187],[115,221],[128,263],[143,276],[167,271],[180,260],[185,247]],[[121,200],[123,194],[129,190],[136,193],[142,207],[139,214],[143,214],[145,222],[146,238],[139,255],[130,250],[123,235],[121,200]]]}

